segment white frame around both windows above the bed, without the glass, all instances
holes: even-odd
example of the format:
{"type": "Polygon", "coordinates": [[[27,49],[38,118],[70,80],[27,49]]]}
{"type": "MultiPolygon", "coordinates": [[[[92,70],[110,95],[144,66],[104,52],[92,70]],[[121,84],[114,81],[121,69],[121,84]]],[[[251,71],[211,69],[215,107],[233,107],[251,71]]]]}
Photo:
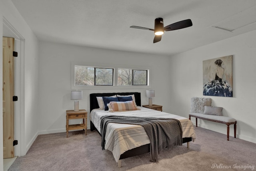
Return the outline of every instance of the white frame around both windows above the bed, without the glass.
{"type": "Polygon", "coordinates": [[[71,89],[145,89],[151,88],[152,69],[150,66],[134,66],[123,64],[100,64],[88,62],[71,62],[71,89]],[[113,68],[114,82],[113,85],[75,85],[75,66],[86,66],[92,68],[113,68]],[[147,70],[147,85],[117,85],[118,68],[129,70],[147,70]]]}

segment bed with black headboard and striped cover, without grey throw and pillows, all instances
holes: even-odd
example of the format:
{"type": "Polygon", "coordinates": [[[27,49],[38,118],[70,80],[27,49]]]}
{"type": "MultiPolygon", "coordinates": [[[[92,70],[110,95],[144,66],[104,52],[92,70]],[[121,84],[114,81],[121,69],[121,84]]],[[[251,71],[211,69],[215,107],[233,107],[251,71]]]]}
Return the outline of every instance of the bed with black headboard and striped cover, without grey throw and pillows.
{"type": "MultiPolygon", "coordinates": [[[[142,116],[147,116],[147,115],[151,115],[153,117],[174,117],[177,118],[178,120],[182,121],[183,125],[182,125],[182,129],[184,129],[184,125],[186,125],[186,130],[185,133],[183,131],[183,136],[182,136],[182,143],[187,143],[188,144],[188,148],[189,148],[189,142],[190,141],[194,141],[196,138],[195,135],[195,131],[194,131],[194,127],[192,122],[184,117],[180,117],[178,115],[172,115],[170,113],[165,113],[165,112],[161,112],[161,111],[156,111],[156,110],[152,110],[152,109],[148,109],[145,107],[141,107],[141,97],[140,97],[140,93],[138,92],[129,92],[129,93],[92,93],[90,94],[90,129],[91,131],[98,131],[98,133],[100,133],[100,117],[103,115],[112,115],[113,113],[117,114],[117,115],[137,115],[137,112],[141,112],[142,116]],[[134,100],[136,102],[137,107],[140,109],[138,111],[128,111],[128,112],[108,112],[108,111],[104,111],[99,109],[99,105],[98,105],[98,101],[97,101],[97,97],[110,97],[113,95],[119,95],[119,96],[126,96],[126,95],[134,95],[134,100]],[[157,115],[157,116],[156,116],[157,115]],[[185,136],[184,136],[185,135],[185,136]]],[[[110,125],[110,124],[109,124],[110,125]]],[[[118,167],[121,167],[121,159],[125,159],[127,157],[132,157],[132,156],[136,156],[136,155],[140,155],[140,154],[144,154],[144,153],[148,153],[150,152],[150,141],[147,137],[147,135],[145,135],[145,133],[143,133],[143,131],[140,131],[138,133],[138,137],[141,136],[141,138],[143,140],[136,140],[136,138],[133,139],[134,142],[128,142],[128,143],[132,143],[132,144],[128,144],[128,147],[124,147],[125,149],[122,149],[121,151],[119,151],[121,148],[123,148],[123,144],[127,144],[127,142],[120,142],[120,144],[115,144],[112,145],[111,142],[113,141],[113,139],[108,139],[108,137],[114,137],[114,135],[112,136],[107,136],[107,135],[111,135],[111,134],[115,134],[115,133],[119,133],[122,131],[123,127],[129,127],[129,129],[138,129],[139,127],[142,127],[140,125],[128,125],[128,124],[112,124],[109,127],[111,127],[111,129],[107,129],[107,133],[106,133],[106,146],[109,147],[108,150],[112,151],[113,156],[115,158],[115,160],[118,163],[118,167]],[[113,150],[113,146],[122,146],[113,150]]],[[[143,129],[143,127],[142,127],[143,129]]],[[[137,136],[136,136],[137,137],[137,136]]]]}

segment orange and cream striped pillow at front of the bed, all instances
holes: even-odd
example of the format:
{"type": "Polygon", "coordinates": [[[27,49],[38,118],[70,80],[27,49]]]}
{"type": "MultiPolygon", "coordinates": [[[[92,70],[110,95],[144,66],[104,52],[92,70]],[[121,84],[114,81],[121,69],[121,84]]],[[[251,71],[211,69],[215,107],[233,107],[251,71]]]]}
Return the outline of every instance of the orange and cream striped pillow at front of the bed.
{"type": "Polygon", "coordinates": [[[110,101],[108,103],[108,111],[126,111],[126,110],[139,110],[134,101],[110,101]]]}

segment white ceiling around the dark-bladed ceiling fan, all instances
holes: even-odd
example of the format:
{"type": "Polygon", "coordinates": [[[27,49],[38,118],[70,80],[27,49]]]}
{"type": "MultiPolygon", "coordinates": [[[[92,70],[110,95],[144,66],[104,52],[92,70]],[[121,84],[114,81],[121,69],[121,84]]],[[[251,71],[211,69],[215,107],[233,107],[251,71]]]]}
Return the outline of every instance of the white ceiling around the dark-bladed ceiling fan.
{"type": "Polygon", "coordinates": [[[256,30],[256,0],[12,0],[39,40],[113,50],[173,55],[256,30]],[[154,19],[165,32],[153,44],[154,19]]]}

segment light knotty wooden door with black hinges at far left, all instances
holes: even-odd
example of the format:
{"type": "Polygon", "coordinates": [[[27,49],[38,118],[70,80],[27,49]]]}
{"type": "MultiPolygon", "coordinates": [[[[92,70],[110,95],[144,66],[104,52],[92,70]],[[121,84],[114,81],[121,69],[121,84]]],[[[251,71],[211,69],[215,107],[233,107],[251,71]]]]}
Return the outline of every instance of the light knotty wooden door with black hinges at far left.
{"type": "Polygon", "coordinates": [[[4,159],[14,157],[14,38],[3,37],[3,146],[4,159]]]}

